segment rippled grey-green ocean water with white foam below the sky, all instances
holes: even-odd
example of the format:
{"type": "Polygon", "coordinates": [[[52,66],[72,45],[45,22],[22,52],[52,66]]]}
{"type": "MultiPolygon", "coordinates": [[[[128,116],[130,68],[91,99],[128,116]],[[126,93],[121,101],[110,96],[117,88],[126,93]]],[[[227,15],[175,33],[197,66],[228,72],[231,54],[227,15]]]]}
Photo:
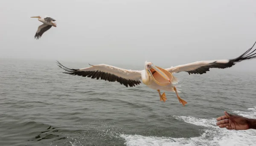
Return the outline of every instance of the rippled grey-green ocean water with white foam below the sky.
{"type": "Polygon", "coordinates": [[[55,61],[0,59],[0,146],[256,146],[256,130],[215,125],[224,110],[256,118],[256,73],[176,73],[183,107],[172,92],[163,103],[144,84],[63,71],[55,61]]]}

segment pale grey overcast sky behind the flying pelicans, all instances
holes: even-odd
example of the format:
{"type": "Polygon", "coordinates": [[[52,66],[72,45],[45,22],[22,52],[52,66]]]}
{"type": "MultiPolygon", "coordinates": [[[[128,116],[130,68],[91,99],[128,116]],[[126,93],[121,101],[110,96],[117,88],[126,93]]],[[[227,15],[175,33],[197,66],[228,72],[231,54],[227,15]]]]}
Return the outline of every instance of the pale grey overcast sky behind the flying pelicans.
{"type": "MultiPolygon", "coordinates": [[[[256,41],[255,0],[1,0],[0,58],[175,66],[256,41]],[[48,15],[57,27],[34,39],[48,15]]],[[[237,68],[256,68],[256,59],[237,68]]],[[[251,69],[250,69],[251,70],[251,69]]]]}

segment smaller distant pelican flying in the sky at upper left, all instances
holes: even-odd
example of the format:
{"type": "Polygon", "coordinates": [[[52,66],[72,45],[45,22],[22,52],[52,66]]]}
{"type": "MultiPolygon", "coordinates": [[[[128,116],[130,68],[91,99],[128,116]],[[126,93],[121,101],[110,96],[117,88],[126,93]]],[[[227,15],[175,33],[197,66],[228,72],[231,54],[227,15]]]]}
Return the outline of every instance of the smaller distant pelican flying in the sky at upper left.
{"type": "Polygon", "coordinates": [[[52,17],[45,16],[44,18],[42,18],[41,16],[34,16],[30,18],[38,18],[38,21],[41,21],[44,23],[38,26],[38,30],[35,33],[36,39],[39,39],[44,34],[44,32],[48,31],[52,26],[57,27],[57,24],[54,23],[54,21],[56,20],[53,19],[52,17]]]}

